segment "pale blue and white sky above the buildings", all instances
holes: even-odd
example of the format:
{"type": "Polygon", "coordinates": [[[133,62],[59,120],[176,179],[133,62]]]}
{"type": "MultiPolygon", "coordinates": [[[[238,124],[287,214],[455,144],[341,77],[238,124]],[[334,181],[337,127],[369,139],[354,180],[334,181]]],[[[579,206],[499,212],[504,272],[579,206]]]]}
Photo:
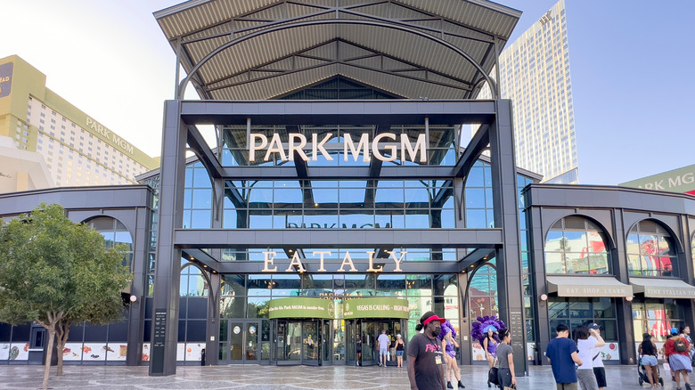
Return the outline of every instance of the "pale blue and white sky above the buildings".
{"type": "MultiPolygon", "coordinates": [[[[580,183],[695,164],[695,1],[565,1],[580,183]]],[[[497,1],[524,12],[510,42],[556,2],[497,1]]],[[[19,55],[53,92],[159,156],[176,55],[152,12],[179,3],[3,0],[0,58],[19,55]]]]}

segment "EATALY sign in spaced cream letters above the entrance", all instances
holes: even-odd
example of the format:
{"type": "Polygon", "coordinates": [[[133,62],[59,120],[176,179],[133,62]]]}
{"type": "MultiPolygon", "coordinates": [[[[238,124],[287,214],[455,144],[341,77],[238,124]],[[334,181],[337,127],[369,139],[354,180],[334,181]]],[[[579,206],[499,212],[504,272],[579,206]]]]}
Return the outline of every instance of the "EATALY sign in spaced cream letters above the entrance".
{"type": "MultiPolygon", "coordinates": [[[[377,265],[376,267],[374,266],[374,253],[375,252],[366,252],[367,256],[369,256],[369,268],[364,270],[366,272],[382,272],[384,270],[383,265],[377,265]]],[[[394,272],[403,272],[403,270],[401,270],[401,263],[403,262],[403,259],[405,258],[405,255],[407,253],[408,252],[400,252],[400,256],[396,256],[396,253],[388,252],[388,257],[391,258],[393,262],[396,264],[396,269],[394,270],[394,272]]],[[[318,270],[315,270],[316,272],[326,272],[326,268],[324,267],[324,256],[326,255],[331,256],[331,251],[315,250],[314,252],[312,252],[312,256],[318,257],[320,260],[320,266],[318,270]]],[[[264,266],[262,272],[278,272],[277,265],[274,263],[275,256],[277,256],[277,252],[263,252],[263,256],[264,266]]],[[[346,267],[347,272],[360,272],[355,267],[355,264],[352,261],[352,256],[350,256],[350,252],[345,253],[345,257],[343,257],[343,261],[342,263],[340,263],[340,266],[335,270],[331,270],[331,272],[346,272],[346,267]]],[[[294,255],[292,256],[290,264],[288,265],[285,272],[307,272],[307,268],[305,268],[304,264],[299,258],[297,250],[294,251],[294,255]]]]}

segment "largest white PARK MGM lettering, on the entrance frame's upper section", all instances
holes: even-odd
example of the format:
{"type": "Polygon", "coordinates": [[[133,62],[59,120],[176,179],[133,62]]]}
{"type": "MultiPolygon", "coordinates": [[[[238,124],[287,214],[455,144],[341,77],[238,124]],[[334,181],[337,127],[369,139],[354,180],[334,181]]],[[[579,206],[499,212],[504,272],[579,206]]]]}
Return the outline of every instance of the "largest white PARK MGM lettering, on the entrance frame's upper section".
{"type": "MultiPolygon", "coordinates": [[[[294,161],[295,155],[304,161],[317,161],[319,153],[321,153],[326,160],[333,160],[325,149],[325,144],[330,142],[333,138],[332,133],[326,134],[321,141],[318,140],[318,134],[311,134],[311,158],[304,152],[307,146],[307,137],[304,134],[291,133],[287,134],[287,136],[287,150],[285,150],[285,146],[280,139],[280,134],[273,134],[270,141],[268,141],[266,134],[251,133],[249,141],[249,160],[256,161],[256,152],[261,150],[266,150],[263,157],[264,161],[268,161],[274,153],[276,153],[282,161],[294,161]]],[[[408,134],[401,134],[400,143],[397,142],[397,136],[393,133],[377,134],[371,143],[369,142],[369,134],[366,133],[362,134],[357,144],[353,142],[350,134],[343,134],[343,139],[343,160],[345,161],[347,161],[349,154],[352,154],[352,158],[357,161],[360,151],[362,152],[362,160],[364,162],[369,162],[372,155],[380,161],[393,161],[398,158],[398,149],[400,149],[401,161],[415,162],[415,158],[417,158],[418,153],[420,153],[420,159],[418,159],[418,161],[421,163],[427,162],[427,142],[425,140],[425,134],[418,135],[418,139],[414,144],[410,142],[408,134]],[[379,144],[380,142],[382,142],[381,146],[379,144]],[[386,150],[388,156],[381,154],[380,149],[386,150]]]]}

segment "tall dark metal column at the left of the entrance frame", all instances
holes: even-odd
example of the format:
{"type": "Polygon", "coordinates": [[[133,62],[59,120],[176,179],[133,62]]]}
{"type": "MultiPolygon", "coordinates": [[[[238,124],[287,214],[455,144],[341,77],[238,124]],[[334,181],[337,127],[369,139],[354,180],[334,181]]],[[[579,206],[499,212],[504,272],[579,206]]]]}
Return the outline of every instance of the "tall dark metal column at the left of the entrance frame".
{"type": "Polygon", "coordinates": [[[178,101],[164,105],[159,225],[154,273],[150,375],[176,374],[178,300],[181,249],[174,247],[174,229],[181,226],[184,204],[186,127],[179,118],[178,101]]]}

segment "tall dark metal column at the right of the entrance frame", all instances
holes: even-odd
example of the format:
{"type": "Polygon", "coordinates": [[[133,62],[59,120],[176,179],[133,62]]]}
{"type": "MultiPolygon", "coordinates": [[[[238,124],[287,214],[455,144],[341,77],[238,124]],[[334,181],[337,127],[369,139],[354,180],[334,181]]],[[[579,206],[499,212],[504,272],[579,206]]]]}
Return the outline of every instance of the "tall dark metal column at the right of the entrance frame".
{"type": "Polygon", "coordinates": [[[495,123],[490,126],[490,162],[493,176],[495,227],[503,229],[503,248],[497,259],[497,297],[499,313],[511,329],[514,369],[526,375],[526,323],[524,293],[521,282],[521,247],[519,245],[519,193],[514,160],[514,132],[510,100],[496,100],[495,123]]]}

